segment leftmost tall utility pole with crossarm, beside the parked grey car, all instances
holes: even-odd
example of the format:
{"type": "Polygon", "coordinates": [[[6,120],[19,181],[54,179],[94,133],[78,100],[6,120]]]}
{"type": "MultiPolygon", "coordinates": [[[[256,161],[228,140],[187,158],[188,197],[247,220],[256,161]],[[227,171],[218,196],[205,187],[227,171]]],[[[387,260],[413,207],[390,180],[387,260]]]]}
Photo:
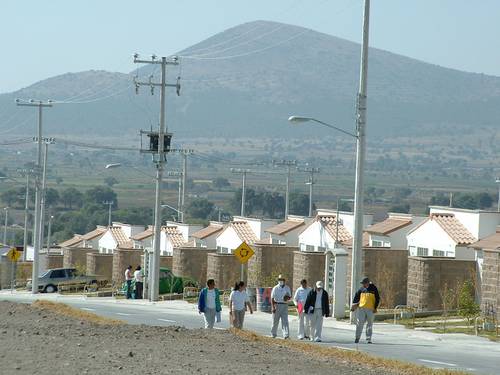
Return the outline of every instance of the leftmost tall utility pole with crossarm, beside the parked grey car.
{"type": "MultiPolygon", "coordinates": [[[[35,225],[33,229],[33,270],[31,274],[32,288],[31,293],[38,293],[38,268],[39,268],[39,253],[40,253],[40,201],[41,201],[41,184],[40,184],[40,169],[42,165],[42,110],[43,108],[52,107],[52,101],[34,100],[28,102],[16,99],[16,104],[22,107],[38,107],[38,152],[35,174],[35,225]]],[[[25,250],[26,251],[26,250],[25,250]]]]}

